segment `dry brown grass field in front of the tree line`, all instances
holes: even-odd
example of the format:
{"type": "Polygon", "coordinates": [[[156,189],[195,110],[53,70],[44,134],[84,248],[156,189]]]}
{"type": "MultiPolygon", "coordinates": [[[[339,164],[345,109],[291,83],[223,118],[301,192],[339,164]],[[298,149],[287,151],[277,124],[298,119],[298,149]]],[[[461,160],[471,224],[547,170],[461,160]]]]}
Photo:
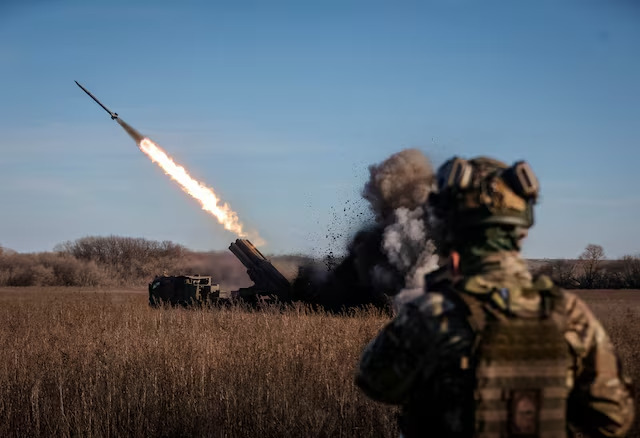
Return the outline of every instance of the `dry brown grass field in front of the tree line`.
{"type": "MultiPolygon", "coordinates": [[[[640,395],[640,292],[578,294],[640,395]]],[[[0,288],[0,436],[394,436],[395,410],[352,383],[386,320],[153,310],[140,289],[0,288]]]]}

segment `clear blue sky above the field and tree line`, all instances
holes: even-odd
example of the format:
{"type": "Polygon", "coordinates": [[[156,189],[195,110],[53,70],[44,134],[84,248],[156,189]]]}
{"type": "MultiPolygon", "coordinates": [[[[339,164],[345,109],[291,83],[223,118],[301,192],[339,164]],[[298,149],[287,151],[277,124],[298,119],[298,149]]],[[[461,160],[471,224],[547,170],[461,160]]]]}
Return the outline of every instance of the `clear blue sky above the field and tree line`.
{"type": "Polygon", "coordinates": [[[529,257],[640,253],[640,5],[3,1],[0,245],[235,237],[78,80],[213,187],[266,252],[339,250],[367,166],[417,147],[524,158],[529,257]],[[346,212],[344,211],[346,210],[346,212]]]}

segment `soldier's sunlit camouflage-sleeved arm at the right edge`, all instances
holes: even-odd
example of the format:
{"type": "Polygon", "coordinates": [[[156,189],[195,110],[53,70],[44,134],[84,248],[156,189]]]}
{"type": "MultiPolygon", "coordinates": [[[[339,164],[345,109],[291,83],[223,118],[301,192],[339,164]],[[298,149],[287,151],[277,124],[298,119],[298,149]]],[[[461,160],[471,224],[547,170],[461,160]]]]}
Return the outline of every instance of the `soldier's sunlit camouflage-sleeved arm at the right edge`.
{"type": "Polygon", "coordinates": [[[622,437],[633,423],[630,381],[609,336],[587,305],[566,294],[566,339],[575,357],[569,422],[587,436],[622,437]]]}

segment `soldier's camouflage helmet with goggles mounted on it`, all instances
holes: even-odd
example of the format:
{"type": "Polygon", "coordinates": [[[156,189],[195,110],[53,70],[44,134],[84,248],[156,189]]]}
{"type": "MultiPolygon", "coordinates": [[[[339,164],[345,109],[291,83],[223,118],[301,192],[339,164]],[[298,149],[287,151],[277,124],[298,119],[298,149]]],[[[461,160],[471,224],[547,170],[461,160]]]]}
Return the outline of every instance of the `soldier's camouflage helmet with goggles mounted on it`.
{"type": "Polygon", "coordinates": [[[488,157],[453,157],[438,169],[429,205],[454,233],[492,225],[529,228],[538,191],[538,180],[524,161],[508,166],[488,157]]]}

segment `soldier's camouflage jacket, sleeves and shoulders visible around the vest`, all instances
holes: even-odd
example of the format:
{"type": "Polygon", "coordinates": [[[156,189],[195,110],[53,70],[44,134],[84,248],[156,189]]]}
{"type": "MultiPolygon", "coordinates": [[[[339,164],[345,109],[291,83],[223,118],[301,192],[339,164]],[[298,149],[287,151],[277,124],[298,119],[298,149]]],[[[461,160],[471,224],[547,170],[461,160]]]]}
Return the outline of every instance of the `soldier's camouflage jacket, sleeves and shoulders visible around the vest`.
{"type": "MultiPolygon", "coordinates": [[[[437,288],[431,291],[429,285],[455,282],[478,295],[500,287],[517,294],[519,288],[531,287],[524,262],[513,257],[503,262],[515,262],[516,268],[494,269],[460,279],[462,283],[443,270],[428,275],[427,292],[403,304],[396,318],[364,350],[356,384],[370,398],[402,407],[404,436],[427,432],[431,436],[473,436],[474,376],[460,367],[460,358],[472,355],[473,329],[467,314],[460,311],[460,300],[437,288]]],[[[600,322],[582,300],[564,294],[565,339],[573,357],[572,369],[567,370],[571,388],[568,428],[574,436],[624,436],[634,418],[630,382],[622,376],[600,322]]]]}

